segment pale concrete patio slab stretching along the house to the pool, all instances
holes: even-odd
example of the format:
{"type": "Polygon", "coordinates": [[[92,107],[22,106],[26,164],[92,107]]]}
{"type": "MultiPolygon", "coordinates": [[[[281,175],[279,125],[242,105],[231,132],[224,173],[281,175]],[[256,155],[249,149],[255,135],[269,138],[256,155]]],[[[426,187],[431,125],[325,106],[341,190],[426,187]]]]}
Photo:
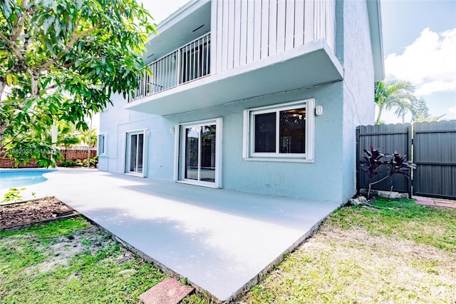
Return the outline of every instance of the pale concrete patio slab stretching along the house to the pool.
{"type": "Polygon", "coordinates": [[[256,283],[338,208],[101,171],[55,171],[46,178],[27,191],[56,196],[221,301],[256,283]]]}

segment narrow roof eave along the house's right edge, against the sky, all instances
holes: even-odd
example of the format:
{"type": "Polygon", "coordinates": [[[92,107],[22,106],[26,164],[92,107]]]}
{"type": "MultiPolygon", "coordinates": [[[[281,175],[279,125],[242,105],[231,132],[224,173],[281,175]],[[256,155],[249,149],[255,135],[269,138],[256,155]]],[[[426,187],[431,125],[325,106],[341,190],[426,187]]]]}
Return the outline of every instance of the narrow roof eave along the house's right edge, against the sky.
{"type": "Polygon", "coordinates": [[[373,55],[375,81],[383,81],[385,78],[385,66],[383,63],[383,37],[382,20],[380,14],[380,1],[367,0],[369,28],[371,31],[371,46],[373,55]]]}

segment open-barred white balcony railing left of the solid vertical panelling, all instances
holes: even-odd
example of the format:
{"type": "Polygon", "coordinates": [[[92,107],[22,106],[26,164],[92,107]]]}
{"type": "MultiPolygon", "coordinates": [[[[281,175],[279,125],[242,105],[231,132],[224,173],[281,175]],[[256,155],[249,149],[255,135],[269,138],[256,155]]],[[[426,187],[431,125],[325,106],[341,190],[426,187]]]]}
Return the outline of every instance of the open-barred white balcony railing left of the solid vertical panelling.
{"type": "Polygon", "coordinates": [[[140,85],[130,101],[174,88],[182,83],[211,73],[210,33],[191,41],[148,65],[149,73],[140,78],[140,85]]]}

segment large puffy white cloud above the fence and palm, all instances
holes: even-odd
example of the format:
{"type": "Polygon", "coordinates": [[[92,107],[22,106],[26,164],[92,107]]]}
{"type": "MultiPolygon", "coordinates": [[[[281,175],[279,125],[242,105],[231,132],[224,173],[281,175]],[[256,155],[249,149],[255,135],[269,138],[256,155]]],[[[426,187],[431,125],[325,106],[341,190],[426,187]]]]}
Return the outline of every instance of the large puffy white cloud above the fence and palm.
{"type": "Polygon", "coordinates": [[[385,59],[387,78],[410,81],[416,95],[456,91],[456,29],[435,33],[424,29],[403,54],[385,59]]]}

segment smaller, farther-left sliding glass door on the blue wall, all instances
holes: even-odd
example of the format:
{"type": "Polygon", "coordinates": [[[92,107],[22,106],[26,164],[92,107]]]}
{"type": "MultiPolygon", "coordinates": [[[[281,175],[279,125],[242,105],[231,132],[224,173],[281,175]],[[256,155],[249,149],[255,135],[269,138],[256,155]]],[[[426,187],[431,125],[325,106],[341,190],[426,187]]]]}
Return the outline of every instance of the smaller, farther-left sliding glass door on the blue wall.
{"type": "Polygon", "coordinates": [[[125,173],[141,174],[144,163],[144,132],[127,133],[125,173]]]}

